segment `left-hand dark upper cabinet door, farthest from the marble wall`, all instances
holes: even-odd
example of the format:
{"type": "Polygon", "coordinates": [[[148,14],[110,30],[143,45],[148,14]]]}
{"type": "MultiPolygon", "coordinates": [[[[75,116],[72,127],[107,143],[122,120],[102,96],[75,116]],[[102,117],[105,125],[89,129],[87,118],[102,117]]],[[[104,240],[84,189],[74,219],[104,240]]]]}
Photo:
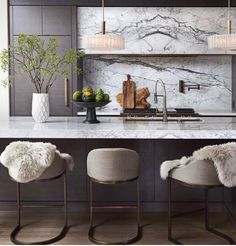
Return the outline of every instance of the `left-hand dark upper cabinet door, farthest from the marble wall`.
{"type": "Polygon", "coordinates": [[[42,35],[41,6],[14,6],[12,14],[13,35],[20,33],[42,35]]]}

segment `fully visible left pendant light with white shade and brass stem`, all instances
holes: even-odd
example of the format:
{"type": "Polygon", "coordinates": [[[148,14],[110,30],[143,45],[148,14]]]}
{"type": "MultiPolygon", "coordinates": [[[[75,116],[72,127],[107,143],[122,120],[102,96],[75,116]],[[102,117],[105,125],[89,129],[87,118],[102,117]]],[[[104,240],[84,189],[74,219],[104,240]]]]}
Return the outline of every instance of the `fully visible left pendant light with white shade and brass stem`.
{"type": "Polygon", "coordinates": [[[102,34],[87,37],[87,48],[90,50],[121,50],[125,48],[125,40],[122,36],[106,33],[106,22],[104,14],[104,1],[102,0],[102,34]]]}

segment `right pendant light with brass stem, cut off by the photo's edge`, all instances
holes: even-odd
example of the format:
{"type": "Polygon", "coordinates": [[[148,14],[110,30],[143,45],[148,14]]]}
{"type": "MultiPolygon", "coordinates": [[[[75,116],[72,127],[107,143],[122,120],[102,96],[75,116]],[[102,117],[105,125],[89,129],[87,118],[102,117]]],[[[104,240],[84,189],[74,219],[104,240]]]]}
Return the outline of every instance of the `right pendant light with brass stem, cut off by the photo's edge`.
{"type": "Polygon", "coordinates": [[[232,22],[230,16],[230,0],[228,0],[228,33],[212,35],[208,38],[209,49],[236,50],[236,34],[232,33],[232,22]]]}

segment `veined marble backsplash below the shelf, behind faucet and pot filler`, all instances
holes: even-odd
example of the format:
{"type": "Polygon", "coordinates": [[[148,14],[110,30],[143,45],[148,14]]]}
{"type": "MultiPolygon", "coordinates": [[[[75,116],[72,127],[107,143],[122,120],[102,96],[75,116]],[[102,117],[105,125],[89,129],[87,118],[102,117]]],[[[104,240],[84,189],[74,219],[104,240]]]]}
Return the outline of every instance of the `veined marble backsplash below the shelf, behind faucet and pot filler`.
{"type": "MultiPolygon", "coordinates": [[[[129,57],[86,56],[84,85],[101,87],[111,95],[108,110],[120,110],[115,96],[122,82],[131,74],[137,87],[148,87],[149,103],[153,103],[154,81],[161,78],[167,89],[168,107],[192,107],[196,111],[231,111],[231,56],[129,57]],[[179,80],[200,84],[200,90],[179,92],[179,80]]],[[[158,86],[158,93],[162,88],[158,86]]],[[[162,107],[161,100],[159,107],[162,107]]]]}

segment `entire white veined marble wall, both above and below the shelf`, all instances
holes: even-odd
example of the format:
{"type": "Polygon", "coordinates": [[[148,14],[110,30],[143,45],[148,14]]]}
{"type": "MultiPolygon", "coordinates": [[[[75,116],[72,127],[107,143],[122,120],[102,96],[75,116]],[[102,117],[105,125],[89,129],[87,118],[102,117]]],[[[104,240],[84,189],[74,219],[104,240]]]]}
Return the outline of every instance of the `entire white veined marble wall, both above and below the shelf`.
{"type": "MultiPolygon", "coordinates": [[[[78,47],[84,47],[86,35],[101,32],[101,14],[101,8],[78,8],[78,47]]],[[[115,95],[121,92],[122,82],[129,73],[137,87],[147,86],[151,93],[154,81],[161,78],[167,87],[168,107],[231,111],[231,56],[207,55],[217,53],[208,50],[208,36],[227,31],[226,8],[108,7],[105,17],[107,32],[125,37],[126,49],[117,52],[132,55],[109,52],[114,54],[84,58],[84,84],[109,92],[112,103],[107,109],[120,109],[115,95]],[[135,54],[185,56],[139,57],[135,54]],[[179,93],[179,80],[200,84],[201,89],[179,93]]],[[[236,8],[232,8],[232,17],[236,23],[236,8]]],[[[153,94],[149,102],[154,106],[153,94]]]]}

